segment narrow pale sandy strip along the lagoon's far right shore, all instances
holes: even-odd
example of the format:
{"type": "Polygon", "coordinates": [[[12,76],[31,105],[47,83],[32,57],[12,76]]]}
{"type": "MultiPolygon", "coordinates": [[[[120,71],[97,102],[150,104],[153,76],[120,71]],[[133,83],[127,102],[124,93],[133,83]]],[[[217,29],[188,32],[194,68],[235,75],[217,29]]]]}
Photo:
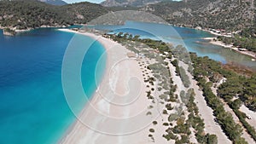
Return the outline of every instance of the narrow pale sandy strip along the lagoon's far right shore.
{"type": "Polygon", "coordinates": [[[204,37],[203,39],[209,40],[210,43],[212,43],[214,45],[219,45],[219,46],[222,46],[224,48],[233,49],[233,50],[235,50],[236,52],[238,52],[238,53],[240,53],[242,55],[251,56],[253,58],[252,60],[256,59],[256,53],[253,53],[251,51],[241,51],[241,50],[239,50],[237,47],[235,47],[232,44],[226,44],[226,43],[223,43],[221,41],[215,41],[214,39],[217,39],[217,37],[204,37]]]}

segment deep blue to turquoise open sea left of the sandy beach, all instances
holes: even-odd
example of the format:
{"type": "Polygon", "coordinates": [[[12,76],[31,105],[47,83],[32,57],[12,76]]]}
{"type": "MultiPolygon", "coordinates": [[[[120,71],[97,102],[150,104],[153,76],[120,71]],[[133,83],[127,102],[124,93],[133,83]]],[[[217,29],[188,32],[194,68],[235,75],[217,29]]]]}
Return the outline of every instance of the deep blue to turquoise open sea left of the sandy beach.
{"type": "MultiPolygon", "coordinates": [[[[76,37],[76,49],[94,41],[76,37]]],[[[62,59],[72,38],[73,33],[54,29],[38,29],[15,37],[5,37],[0,31],[1,144],[55,143],[73,124],[75,117],[61,85],[62,59]]],[[[84,56],[81,78],[89,98],[96,89],[96,80],[102,77],[103,63],[97,69],[98,78],[94,74],[103,52],[102,45],[96,42],[84,56]]],[[[85,102],[79,101],[77,110],[85,102]]]]}

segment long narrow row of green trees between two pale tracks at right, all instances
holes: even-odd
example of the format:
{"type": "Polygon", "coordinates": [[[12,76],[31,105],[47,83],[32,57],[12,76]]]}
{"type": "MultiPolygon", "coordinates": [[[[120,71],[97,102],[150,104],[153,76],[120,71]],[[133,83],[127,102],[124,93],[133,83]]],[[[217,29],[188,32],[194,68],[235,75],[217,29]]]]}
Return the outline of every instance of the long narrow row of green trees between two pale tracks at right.
{"type": "Polygon", "coordinates": [[[210,69],[210,72],[212,72],[213,70],[211,69],[211,67],[207,67],[207,68],[203,67],[206,65],[199,63],[200,60],[194,59],[194,61],[195,61],[194,73],[197,73],[197,72],[206,73],[205,75],[203,75],[204,77],[197,74],[194,74],[194,77],[198,81],[198,84],[203,91],[203,95],[205,96],[207,105],[212,108],[213,114],[216,117],[218,124],[220,124],[222,130],[224,130],[225,135],[227,135],[230,141],[233,141],[234,143],[247,143],[247,141],[245,141],[245,139],[241,137],[242,135],[241,126],[239,124],[236,124],[230,112],[226,112],[224,110],[224,105],[222,101],[220,101],[219,98],[213,94],[211,89],[212,82],[207,82],[206,80],[206,78],[211,76],[211,73],[209,73],[208,71],[202,72],[202,71],[205,71],[206,69],[210,69]]]}

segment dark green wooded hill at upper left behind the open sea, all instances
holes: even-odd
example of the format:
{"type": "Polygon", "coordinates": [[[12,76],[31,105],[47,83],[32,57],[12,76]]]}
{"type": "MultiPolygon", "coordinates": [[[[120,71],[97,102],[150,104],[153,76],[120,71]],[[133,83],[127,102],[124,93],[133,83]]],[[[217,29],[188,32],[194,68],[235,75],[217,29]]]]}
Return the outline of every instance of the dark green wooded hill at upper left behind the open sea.
{"type": "Polygon", "coordinates": [[[0,1],[0,26],[11,29],[68,26],[84,24],[107,13],[107,9],[94,3],[55,6],[34,0],[0,1]]]}

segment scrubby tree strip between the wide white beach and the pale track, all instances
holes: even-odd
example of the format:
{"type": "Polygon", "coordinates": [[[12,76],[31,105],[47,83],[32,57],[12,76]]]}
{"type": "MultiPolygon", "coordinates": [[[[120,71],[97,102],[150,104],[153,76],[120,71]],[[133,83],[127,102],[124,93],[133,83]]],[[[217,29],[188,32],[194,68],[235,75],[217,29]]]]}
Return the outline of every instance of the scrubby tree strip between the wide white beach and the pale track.
{"type": "MultiPolygon", "coordinates": [[[[164,126],[167,126],[166,134],[163,135],[163,137],[166,138],[167,141],[174,140],[175,143],[189,143],[189,135],[191,135],[190,129],[195,130],[195,137],[196,140],[199,143],[208,143],[208,144],[217,144],[218,139],[217,135],[211,135],[206,134],[204,132],[204,122],[203,119],[200,118],[198,107],[195,105],[195,92],[194,89],[189,89],[187,93],[185,91],[181,91],[180,97],[183,103],[179,103],[178,107],[173,107],[172,102],[177,102],[177,95],[175,95],[177,85],[173,84],[171,73],[168,67],[168,63],[165,63],[165,59],[168,59],[173,66],[176,67],[176,73],[177,76],[183,77],[182,81],[185,87],[189,88],[190,82],[187,82],[189,80],[189,77],[186,74],[186,71],[183,67],[178,66],[178,60],[184,60],[189,63],[188,60],[185,60],[184,58],[187,58],[188,54],[184,56],[183,52],[180,50],[180,46],[178,46],[174,51],[173,47],[170,45],[167,45],[165,43],[162,43],[161,41],[155,41],[151,39],[140,39],[139,37],[132,37],[131,35],[128,35],[127,33],[119,33],[115,35],[110,35],[113,40],[119,42],[119,43],[125,43],[127,40],[144,43],[147,46],[149,46],[151,49],[157,49],[160,54],[165,54],[166,57],[160,57],[158,56],[154,57],[158,62],[151,64],[148,66],[148,70],[151,70],[152,73],[154,73],[154,77],[158,79],[160,90],[165,89],[169,91],[164,92],[163,95],[160,95],[161,100],[165,100],[167,102],[166,109],[163,110],[163,114],[168,114],[168,112],[172,111],[173,109],[176,110],[175,113],[170,113],[168,117],[169,123],[164,123],[164,126]],[[174,56],[170,56],[170,54],[174,54],[174,56]],[[175,60],[171,60],[173,57],[177,58],[175,60]],[[165,68],[167,66],[167,69],[165,68]],[[167,71],[166,71],[167,70],[167,71]],[[167,76],[167,77],[165,77],[167,76]],[[166,83],[167,82],[167,83],[166,83]],[[189,116],[187,120],[185,119],[185,115],[183,112],[183,104],[186,104],[186,107],[189,110],[189,116]],[[173,125],[173,121],[176,120],[177,124],[173,125]]],[[[131,43],[131,42],[130,42],[131,43]]],[[[126,44],[129,47],[129,44],[126,44]]],[[[131,45],[131,44],[130,44],[131,45]]],[[[130,48],[132,51],[137,52],[138,54],[141,54],[142,51],[137,51],[137,49],[133,49],[131,46],[130,48]]],[[[150,50],[150,49],[148,49],[150,50]]],[[[147,50],[147,51],[148,51],[147,50]]],[[[146,55],[146,57],[150,57],[148,53],[143,53],[143,55],[146,55]]],[[[151,58],[151,57],[150,57],[151,58]]],[[[149,80],[147,80],[148,82],[149,80]]],[[[148,95],[151,95],[151,93],[148,92],[148,95]]],[[[148,96],[149,99],[154,99],[153,96],[148,96]]],[[[155,123],[154,123],[155,124],[155,123]]],[[[149,130],[150,131],[150,130],[149,130]]],[[[152,130],[150,131],[152,133],[152,130]]],[[[153,134],[149,134],[151,138],[154,138],[153,134]]]]}

